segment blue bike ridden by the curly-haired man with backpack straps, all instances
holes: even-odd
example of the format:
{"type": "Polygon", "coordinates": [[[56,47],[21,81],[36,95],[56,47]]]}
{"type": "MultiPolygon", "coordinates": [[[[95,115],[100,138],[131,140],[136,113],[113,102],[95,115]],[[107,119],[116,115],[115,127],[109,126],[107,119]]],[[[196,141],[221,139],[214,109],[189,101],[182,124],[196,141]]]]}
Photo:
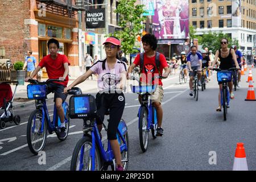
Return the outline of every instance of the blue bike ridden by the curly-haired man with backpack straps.
{"type": "MultiPolygon", "coordinates": [[[[161,76],[155,78],[163,78],[161,76]]],[[[152,93],[155,92],[157,85],[143,86],[138,77],[131,77],[131,80],[137,80],[139,86],[130,85],[133,93],[140,94],[142,97],[141,107],[139,107],[139,143],[143,152],[147,151],[148,147],[148,133],[151,130],[152,138],[160,137],[162,135],[156,135],[156,129],[158,128],[158,121],[156,117],[156,109],[152,105],[151,100],[148,103],[148,99],[152,93]]]]}

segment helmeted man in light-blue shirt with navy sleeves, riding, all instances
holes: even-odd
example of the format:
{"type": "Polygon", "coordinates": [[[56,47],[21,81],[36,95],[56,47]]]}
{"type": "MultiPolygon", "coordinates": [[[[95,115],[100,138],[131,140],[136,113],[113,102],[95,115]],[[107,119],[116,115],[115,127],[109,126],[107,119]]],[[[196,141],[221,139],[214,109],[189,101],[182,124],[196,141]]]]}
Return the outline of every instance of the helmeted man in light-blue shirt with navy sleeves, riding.
{"type": "MultiPolygon", "coordinates": [[[[197,52],[196,46],[191,46],[191,52],[188,53],[187,61],[188,61],[188,69],[189,69],[189,96],[193,96],[193,80],[194,80],[194,72],[197,71],[198,80],[201,79],[201,71],[202,71],[202,55],[197,52]]],[[[199,86],[201,86],[201,82],[199,81],[199,86]]]]}

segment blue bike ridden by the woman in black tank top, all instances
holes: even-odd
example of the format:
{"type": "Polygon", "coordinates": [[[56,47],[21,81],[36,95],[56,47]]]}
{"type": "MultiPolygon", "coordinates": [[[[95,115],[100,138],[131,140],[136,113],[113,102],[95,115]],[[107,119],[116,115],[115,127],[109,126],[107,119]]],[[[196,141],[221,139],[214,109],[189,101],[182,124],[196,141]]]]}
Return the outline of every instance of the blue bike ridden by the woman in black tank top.
{"type": "Polygon", "coordinates": [[[233,71],[236,69],[237,68],[229,68],[228,70],[221,70],[220,68],[213,68],[214,71],[217,71],[218,82],[222,82],[221,105],[223,107],[224,121],[226,121],[230,101],[228,82],[232,81],[233,71]]]}

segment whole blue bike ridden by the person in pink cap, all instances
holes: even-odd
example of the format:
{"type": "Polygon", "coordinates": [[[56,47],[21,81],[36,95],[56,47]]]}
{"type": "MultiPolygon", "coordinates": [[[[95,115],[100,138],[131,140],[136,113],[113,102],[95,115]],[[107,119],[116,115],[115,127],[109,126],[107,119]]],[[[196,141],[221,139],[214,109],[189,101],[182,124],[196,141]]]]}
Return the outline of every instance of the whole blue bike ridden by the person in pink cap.
{"type": "MultiPolygon", "coordinates": [[[[79,88],[72,88],[69,92],[75,93],[79,88]]],[[[109,90],[102,90],[102,93],[109,90]]],[[[80,91],[79,91],[80,92],[80,91]]],[[[110,93],[122,92],[113,89],[110,93]]],[[[71,171],[102,171],[108,170],[111,166],[112,170],[116,169],[115,158],[110,142],[108,140],[108,148],[105,150],[101,141],[101,135],[98,131],[96,117],[96,100],[90,94],[75,94],[69,100],[69,116],[72,119],[78,118],[84,121],[84,132],[82,138],[77,142],[73,151],[71,160],[71,171]]],[[[109,111],[105,115],[108,115],[109,111]]],[[[107,131],[107,127],[104,125],[107,131]]],[[[129,163],[129,138],[125,121],[121,119],[117,130],[117,140],[120,145],[121,161],[123,169],[127,170],[129,163]]]]}

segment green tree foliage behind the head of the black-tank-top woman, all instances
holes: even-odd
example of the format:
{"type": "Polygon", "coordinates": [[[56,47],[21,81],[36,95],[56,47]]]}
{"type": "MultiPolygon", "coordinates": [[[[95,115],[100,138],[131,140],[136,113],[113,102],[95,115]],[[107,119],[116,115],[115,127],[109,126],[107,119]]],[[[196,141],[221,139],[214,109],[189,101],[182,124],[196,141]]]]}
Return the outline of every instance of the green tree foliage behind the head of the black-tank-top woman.
{"type": "Polygon", "coordinates": [[[209,31],[208,34],[204,34],[201,38],[200,44],[203,46],[203,48],[208,47],[209,50],[212,50],[213,53],[221,48],[220,41],[222,38],[226,38],[229,41],[228,47],[230,48],[232,45],[237,45],[238,46],[238,40],[230,37],[228,34],[223,34],[221,31],[220,32],[211,32],[209,31]]]}

